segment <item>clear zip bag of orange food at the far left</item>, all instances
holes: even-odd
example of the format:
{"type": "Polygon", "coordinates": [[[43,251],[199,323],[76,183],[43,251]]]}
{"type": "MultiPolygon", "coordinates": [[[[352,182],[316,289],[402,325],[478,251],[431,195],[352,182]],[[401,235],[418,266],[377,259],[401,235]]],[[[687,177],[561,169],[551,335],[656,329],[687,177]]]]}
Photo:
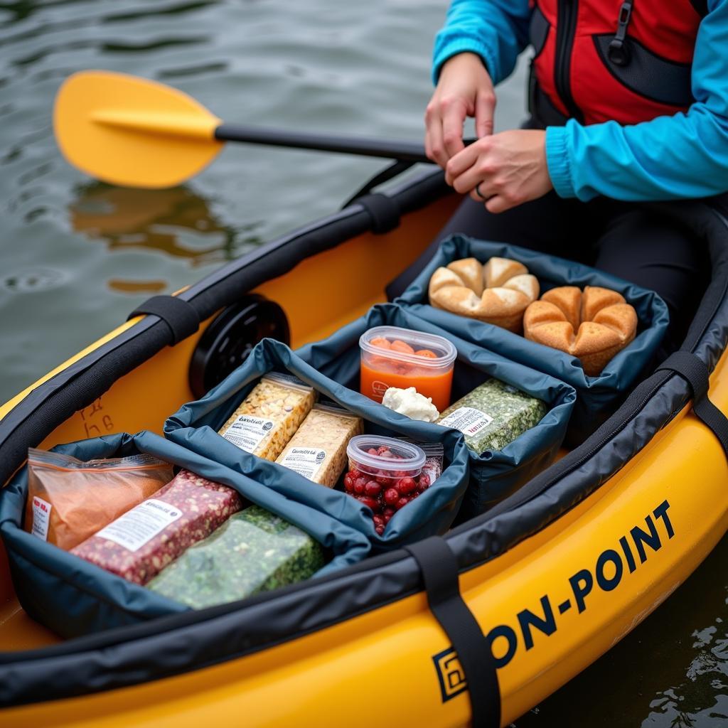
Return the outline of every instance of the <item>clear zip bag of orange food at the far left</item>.
{"type": "Polygon", "coordinates": [[[149,498],[172,477],[172,466],[151,455],[83,462],[28,448],[25,528],[68,551],[149,498]]]}

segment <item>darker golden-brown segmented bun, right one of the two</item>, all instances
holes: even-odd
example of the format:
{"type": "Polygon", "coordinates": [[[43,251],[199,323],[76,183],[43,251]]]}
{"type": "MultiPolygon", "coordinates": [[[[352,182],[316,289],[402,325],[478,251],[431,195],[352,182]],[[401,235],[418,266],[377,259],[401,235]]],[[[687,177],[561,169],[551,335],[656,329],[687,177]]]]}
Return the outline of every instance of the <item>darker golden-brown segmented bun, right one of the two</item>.
{"type": "Polygon", "coordinates": [[[635,338],[637,313],[614,290],[573,285],[553,288],[523,315],[526,339],[578,357],[597,376],[635,338]]]}

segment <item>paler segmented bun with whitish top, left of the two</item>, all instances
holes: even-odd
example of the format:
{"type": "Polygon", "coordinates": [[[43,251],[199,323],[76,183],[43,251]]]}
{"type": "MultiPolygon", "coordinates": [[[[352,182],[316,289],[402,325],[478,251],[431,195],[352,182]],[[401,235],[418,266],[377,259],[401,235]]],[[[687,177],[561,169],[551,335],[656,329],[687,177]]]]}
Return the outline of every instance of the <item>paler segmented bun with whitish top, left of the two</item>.
{"type": "Polygon", "coordinates": [[[520,332],[523,312],[539,296],[539,282],[518,261],[475,258],[453,261],[430,278],[430,304],[454,314],[520,332]]]}

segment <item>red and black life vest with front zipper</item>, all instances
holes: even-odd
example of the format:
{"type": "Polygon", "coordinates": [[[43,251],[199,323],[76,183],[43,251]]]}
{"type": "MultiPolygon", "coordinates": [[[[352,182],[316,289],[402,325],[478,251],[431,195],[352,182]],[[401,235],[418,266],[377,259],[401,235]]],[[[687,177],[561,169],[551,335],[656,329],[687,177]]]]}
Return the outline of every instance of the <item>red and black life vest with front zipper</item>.
{"type": "MultiPolygon", "coordinates": [[[[635,124],[686,111],[705,0],[531,0],[532,113],[635,124]]],[[[549,118],[550,117],[550,118],[549,118]]]]}

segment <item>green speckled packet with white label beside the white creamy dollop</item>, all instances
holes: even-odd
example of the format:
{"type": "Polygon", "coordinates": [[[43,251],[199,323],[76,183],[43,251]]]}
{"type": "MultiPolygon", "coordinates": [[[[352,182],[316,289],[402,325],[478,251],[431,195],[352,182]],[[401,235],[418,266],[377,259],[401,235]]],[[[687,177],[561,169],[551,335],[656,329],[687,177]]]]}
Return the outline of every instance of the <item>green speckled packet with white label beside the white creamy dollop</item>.
{"type": "Polygon", "coordinates": [[[454,427],[465,435],[475,454],[502,450],[526,430],[535,427],[548,408],[545,402],[499,379],[488,379],[450,405],[438,419],[443,427],[454,427]]]}

